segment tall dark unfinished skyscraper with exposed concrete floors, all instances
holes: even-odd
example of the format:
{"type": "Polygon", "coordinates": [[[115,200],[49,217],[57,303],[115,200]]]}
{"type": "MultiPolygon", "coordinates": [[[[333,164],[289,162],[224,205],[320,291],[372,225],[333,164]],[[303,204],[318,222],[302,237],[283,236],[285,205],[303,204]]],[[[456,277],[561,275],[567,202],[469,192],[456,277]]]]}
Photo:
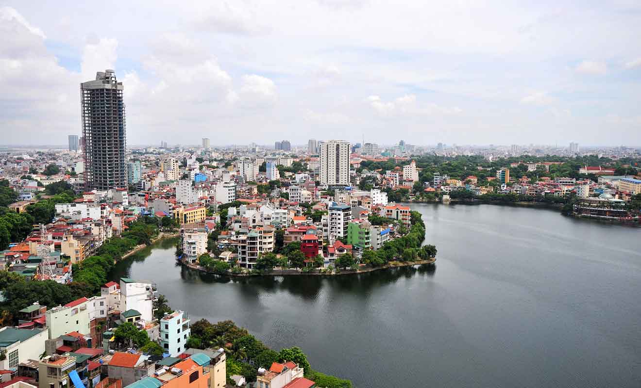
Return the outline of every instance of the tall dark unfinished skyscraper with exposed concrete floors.
{"type": "Polygon", "coordinates": [[[85,156],[85,188],[127,187],[125,106],[122,82],[113,70],[96,73],[95,81],[80,84],[85,156]]]}

